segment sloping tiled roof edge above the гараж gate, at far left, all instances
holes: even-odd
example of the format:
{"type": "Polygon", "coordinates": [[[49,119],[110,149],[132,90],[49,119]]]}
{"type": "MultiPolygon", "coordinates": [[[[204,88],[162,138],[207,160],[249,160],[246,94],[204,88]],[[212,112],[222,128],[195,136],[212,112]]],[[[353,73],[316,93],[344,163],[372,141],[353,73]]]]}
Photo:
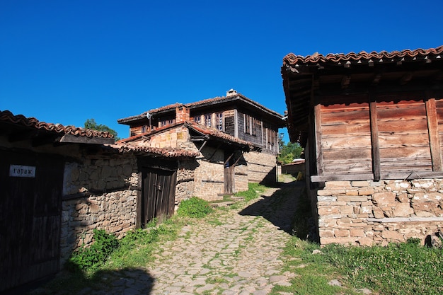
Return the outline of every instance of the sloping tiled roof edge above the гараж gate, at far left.
{"type": "Polygon", "coordinates": [[[23,127],[31,127],[35,129],[45,130],[48,132],[55,132],[60,134],[69,134],[76,137],[100,137],[113,139],[114,135],[109,132],[96,131],[93,129],[84,129],[74,126],[64,126],[60,124],[52,124],[46,122],[40,122],[35,117],[25,117],[23,115],[13,115],[8,110],[0,111],[0,122],[6,122],[13,125],[19,125],[23,127]]]}

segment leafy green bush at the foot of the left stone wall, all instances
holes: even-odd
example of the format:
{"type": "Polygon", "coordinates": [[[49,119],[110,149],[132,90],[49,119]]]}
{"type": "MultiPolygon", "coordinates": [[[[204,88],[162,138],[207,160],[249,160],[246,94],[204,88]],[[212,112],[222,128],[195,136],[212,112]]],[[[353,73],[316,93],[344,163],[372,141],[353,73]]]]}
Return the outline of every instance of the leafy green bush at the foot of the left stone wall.
{"type": "Polygon", "coordinates": [[[118,248],[118,241],[114,235],[106,233],[103,229],[93,230],[93,243],[90,247],[82,246],[72,253],[68,261],[71,270],[84,270],[97,267],[106,261],[108,256],[118,248]]]}

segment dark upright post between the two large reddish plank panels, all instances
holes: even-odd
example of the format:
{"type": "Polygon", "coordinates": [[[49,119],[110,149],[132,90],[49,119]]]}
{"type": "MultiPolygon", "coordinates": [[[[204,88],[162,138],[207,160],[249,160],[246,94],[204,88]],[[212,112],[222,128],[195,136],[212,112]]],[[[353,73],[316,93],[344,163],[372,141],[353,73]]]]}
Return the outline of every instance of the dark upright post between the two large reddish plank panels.
{"type": "Polygon", "coordinates": [[[374,93],[369,93],[369,117],[371,120],[372,173],[374,173],[374,180],[379,181],[381,175],[379,123],[377,122],[377,105],[374,93]]]}

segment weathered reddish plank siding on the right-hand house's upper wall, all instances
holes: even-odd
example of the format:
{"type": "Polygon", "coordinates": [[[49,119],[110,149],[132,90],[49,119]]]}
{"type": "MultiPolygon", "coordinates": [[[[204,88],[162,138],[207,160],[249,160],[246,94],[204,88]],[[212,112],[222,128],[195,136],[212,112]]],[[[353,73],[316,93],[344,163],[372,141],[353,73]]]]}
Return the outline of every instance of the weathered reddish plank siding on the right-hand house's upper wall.
{"type": "MultiPolygon", "coordinates": [[[[367,175],[374,161],[381,175],[432,171],[430,132],[423,92],[323,96],[316,129],[321,175],[367,175]],[[376,114],[371,114],[376,112],[376,114]],[[376,119],[371,125],[371,116],[376,119]],[[372,134],[373,133],[373,134],[372,134]],[[373,137],[372,137],[373,136],[373,137]],[[377,141],[376,143],[373,141],[377,141]],[[376,149],[379,159],[373,158],[376,149]]],[[[436,100],[439,143],[443,149],[443,102],[436,100]]],[[[317,118],[318,119],[318,118],[317,118]]]]}

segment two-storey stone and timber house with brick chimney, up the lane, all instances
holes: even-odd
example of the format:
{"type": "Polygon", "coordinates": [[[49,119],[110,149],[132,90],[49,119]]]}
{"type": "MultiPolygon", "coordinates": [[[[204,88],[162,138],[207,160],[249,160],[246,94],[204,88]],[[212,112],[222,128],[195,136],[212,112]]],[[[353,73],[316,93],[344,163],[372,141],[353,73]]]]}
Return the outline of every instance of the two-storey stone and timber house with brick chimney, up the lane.
{"type": "MultiPolygon", "coordinates": [[[[234,90],[195,103],[175,103],[117,120],[130,126],[123,144],[200,152],[192,176],[178,180],[176,196],[221,198],[248,182],[274,183],[282,115],[234,90]]],[[[180,170],[180,168],[179,168],[180,170]]]]}

